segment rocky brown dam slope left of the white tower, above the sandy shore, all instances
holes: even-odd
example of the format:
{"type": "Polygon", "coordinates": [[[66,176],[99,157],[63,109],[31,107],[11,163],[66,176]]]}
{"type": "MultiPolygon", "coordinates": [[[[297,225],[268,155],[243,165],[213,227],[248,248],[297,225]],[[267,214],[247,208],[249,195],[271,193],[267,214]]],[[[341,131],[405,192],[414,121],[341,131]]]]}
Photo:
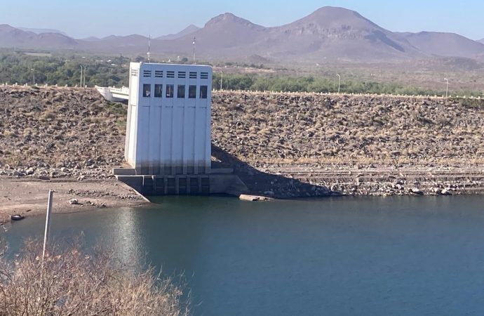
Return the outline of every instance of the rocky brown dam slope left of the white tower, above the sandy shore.
{"type": "Polygon", "coordinates": [[[108,178],[126,110],[93,89],[0,88],[0,176],[108,178]]]}

